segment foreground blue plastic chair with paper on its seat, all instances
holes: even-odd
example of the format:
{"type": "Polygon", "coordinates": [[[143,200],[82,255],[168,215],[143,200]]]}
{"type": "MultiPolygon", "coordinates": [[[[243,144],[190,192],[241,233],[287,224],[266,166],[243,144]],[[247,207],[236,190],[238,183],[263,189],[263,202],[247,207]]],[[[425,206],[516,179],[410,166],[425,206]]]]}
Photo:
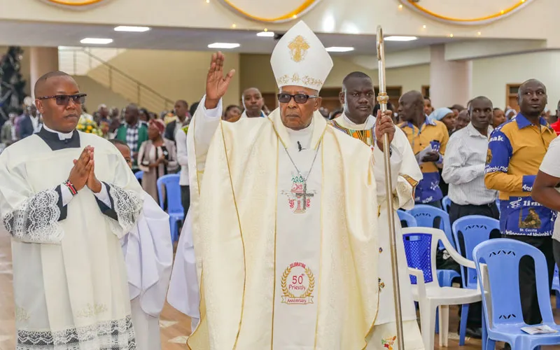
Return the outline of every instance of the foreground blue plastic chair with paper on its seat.
{"type": "MultiPolygon", "coordinates": [[[[482,295],[486,295],[482,297],[484,322],[488,332],[486,349],[494,349],[496,342],[507,342],[512,350],[533,350],[541,345],[560,344],[560,326],[554,323],[550,305],[545,255],[529,244],[504,238],[482,242],[472,255],[475,258],[479,288],[482,295]],[[529,335],[521,330],[522,327],[527,326],[523,320],[519,295],[519,260],[525,255],[531,256],[535,261],[535,279],[542,324],[557,330],[557,333],[529,335]],[[484,275],[482,264],[486,264],[487,268],[487,273],[484,275]],[[487,286],[484,286],[483,276],[487,278],[487,286]],[[487,300],[488,297],[490,300],[487,300]]],[[[482,341],[484,342],[485,339],[482,341]]]]}

